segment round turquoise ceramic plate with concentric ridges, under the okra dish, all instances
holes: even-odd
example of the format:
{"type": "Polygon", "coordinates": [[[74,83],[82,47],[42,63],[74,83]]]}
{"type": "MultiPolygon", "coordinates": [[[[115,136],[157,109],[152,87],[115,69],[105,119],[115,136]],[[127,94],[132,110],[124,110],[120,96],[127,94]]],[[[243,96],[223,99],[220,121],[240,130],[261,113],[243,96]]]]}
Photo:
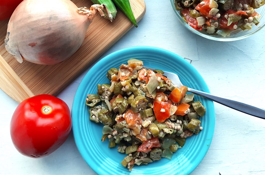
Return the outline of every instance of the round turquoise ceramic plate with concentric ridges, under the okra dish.
{"type": "Polygon", "coordinates": [[[156,47],[130,47],[104,57],[85,75],[73,101],[73,134],[77,148],[87,164],[98,174],[189,174],[204,158],[214,133],[215,114],[212,101],[195,96],[206,108],[201,119],[203,130],[188,137],[183,148],[173,154],[171,160],[162,158],[148,165],[137,166],[129,170],[121,165],[125,154],[117,152],[117,146],[108,147],[108,140],[101,141],[103,124],[89,120],[89,107],[85,105],[87,94],[97,92],[97,84],[109,83],[106,77],[110,68],[127,64],[127,60],[142,60],[145,66],[171,71],[179,75],[181,82],[188,87],[209,92],[209,89],[197,70],[182,57],[156,47]]]}

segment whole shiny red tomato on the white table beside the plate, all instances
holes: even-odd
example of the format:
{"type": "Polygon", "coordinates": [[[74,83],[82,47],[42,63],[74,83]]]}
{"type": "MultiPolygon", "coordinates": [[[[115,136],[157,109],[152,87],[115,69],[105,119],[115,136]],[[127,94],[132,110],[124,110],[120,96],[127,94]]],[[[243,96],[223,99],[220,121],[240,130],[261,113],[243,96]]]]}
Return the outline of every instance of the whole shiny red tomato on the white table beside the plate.
{"type": "Polygon", "coordinates": [[[47,156],[67,139],[72,128],[67,104],[51,95],[37,95],[22,101],[10,123],[16,149],[32,158],[47,156]]]}

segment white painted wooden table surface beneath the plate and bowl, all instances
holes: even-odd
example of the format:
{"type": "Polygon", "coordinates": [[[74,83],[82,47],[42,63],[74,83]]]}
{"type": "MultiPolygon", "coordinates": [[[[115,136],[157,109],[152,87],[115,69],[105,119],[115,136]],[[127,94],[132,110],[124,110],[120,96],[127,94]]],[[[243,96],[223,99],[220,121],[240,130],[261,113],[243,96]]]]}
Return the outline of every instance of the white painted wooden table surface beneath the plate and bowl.
{"type": "MultiPolygon", "coordinates": [[[[187,58],[211,93],[265,108],[265,29],[240,41],[211,41],[185,29],[169,0],[145,2],[147,10],[139,27],[131,29],[100,59],[130,46],[161,47],[187,58]]],[[[57,96],[70,110],[78,85],[91,66],[57,96]]],[[[0,89],[0,174],[96,174],[82,159],[72,132],[58,150],[44,158],[28,158],[16,151],[9,125],[17,105],[0,89]]],[[[265,174],[265,120],[214,105],[213,140],[191,174],[265,174]]]]}

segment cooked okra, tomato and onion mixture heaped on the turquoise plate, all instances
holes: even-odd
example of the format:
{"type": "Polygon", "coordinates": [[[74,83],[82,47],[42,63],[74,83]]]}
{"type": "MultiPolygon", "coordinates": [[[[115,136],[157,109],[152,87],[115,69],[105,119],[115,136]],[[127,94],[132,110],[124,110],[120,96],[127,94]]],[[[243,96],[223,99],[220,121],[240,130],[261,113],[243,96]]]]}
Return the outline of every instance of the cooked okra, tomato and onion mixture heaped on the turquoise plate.
{"type": "Polygon", "coordinates": [[[110,68],[110,82],[98,84],[97,94],[87,95],[90,122],[104,125],[101,141],[108,140],[109,148],[117,145],[125,154],[121,164],[129,170],[171,159],[187,137],[203,129],[200,117],[205,107],[187,93],[187,87],[174,86],[163,74],[130,59],[119,69],[110,68]]]}

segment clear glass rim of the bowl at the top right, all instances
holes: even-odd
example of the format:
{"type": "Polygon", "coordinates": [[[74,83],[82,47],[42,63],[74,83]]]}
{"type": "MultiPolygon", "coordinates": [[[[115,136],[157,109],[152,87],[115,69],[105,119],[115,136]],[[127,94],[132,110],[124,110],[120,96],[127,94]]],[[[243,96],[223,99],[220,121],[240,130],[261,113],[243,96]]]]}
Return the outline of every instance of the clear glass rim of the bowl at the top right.
{"type": "MultiPolygon", "coordinates": [[[[263,26],[265,25],[262,24],[258,27],[257,30],[255,30],[254,32],[251,32],[251,33],[248,33],[246,35],[243,35],[243,36],[240,36],[240,37],[234,37],[234,38],[226,38],[226,37],[223,37],[223,38],[217,38],[217,37],[214,37],[214,36],[211,36],[211,35],[207,35],[207,34],[204,34],[204,33],[201,33],[195,29],[193,29],[190,25],[188,25],[183,19],[182,17],[180,16],[180,14],[178,13],[178,11],[176,10],[176,7],[175,7],[175,4],[174,4],[174,1],[175,0],[170,0],[171,2],[171,6],[175,12],[175,14],[177,15],[178,19],[181,21],[181,23],[189,29],[189,31],[191,31],[192,33],[195,33],[197,35],[200,35],[201,37],[204,37],[206,39],[210,39],[210,40],[214,40],[214,41],[237,41],[237,40],[241,40],[241,39],[245,39],[245,38],[248,38],[249,36],[253,35],[254,33],[258,32],[260,29],[263,28],[263,26]]],[[[265,8],[265,7],[264,7],[265,8]]]]}

